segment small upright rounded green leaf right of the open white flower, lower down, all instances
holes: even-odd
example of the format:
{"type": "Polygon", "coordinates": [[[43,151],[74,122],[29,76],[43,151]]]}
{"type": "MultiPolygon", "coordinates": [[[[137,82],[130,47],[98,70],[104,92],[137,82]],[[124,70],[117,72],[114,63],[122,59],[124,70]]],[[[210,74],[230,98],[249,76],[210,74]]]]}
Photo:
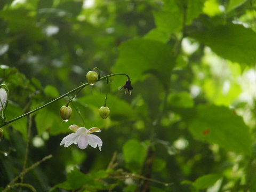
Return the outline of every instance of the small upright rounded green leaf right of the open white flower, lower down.
{"type": "Polygon", "coordinates": [[[129,169],[138,171],[142,166],[147,155],[147,149],[138,140],[132,139],[127,141],[123,146],[124,160],[129,164],[129,169]]]}

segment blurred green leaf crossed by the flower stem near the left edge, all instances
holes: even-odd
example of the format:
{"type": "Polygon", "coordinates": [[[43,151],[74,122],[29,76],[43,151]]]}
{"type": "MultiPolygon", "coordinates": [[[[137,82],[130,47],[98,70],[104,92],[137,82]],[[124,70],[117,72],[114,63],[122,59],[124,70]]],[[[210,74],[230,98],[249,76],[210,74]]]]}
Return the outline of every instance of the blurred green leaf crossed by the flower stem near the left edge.
{"type": "MultiPolygon", "coordinates": [[[[23,110],[15,103],[9,101],[8,106],[5,109],[5,115],[7,121],[10,121],[16,117],[23,115],[23,110]]],[[[23,138],[26,140],[27,138],[27,118],[23,117],[17,121],[14,121],[10,124],[15,130],[21,132],[23,138]]],[[[6,125],[9,126],[9,125],[6,125]]]]}

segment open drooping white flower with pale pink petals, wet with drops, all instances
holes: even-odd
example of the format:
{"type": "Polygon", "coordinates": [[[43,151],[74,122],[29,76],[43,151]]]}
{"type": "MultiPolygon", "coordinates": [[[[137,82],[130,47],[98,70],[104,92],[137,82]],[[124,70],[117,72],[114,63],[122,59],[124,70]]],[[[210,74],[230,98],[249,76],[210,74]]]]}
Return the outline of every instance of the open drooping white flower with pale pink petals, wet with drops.
{"type": "Polygon", "coordinates": [[[93,134],[93,132],[100,132],[98,127],[92,127],[87,130],[85,127],[78,127],[77,125],[69,126],[69,129],[75,131],[75,133],[71,133],[67,135],[67,137],[63,138],[60,145],[64,145],[64,147],[70,146],[72,143],[76,144],[80,149],[85,149],[88,144],[93,148],[99,147],[101,150],[102,141],[101,139],[93,134]]]}

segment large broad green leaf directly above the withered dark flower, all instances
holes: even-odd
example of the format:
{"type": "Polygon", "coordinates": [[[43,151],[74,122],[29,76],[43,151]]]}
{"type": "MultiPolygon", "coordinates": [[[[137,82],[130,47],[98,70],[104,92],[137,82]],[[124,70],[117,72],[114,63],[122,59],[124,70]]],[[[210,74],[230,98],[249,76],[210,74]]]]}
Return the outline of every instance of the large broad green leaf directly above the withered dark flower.
{"type": "Polygon", "coordinates": [[[132,82],[141,80],[144,73],[152,73],[162,83],[169,83],[175,64],[169,45],[137,38],[122,43],[119,49],[120,55],[114,68],[116,73],[129,74],[132,82]]]}

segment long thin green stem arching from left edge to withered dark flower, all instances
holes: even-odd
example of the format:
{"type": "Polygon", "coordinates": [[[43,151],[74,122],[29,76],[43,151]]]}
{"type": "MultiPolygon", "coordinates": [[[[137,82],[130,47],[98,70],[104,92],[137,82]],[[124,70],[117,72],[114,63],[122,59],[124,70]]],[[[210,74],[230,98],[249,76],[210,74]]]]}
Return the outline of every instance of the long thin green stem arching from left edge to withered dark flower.
{"type": "MultiPolygon", "coordinates": [[[[124,74],[124,73],[116,73],[116,74],[111,74],[111,75],[106,75],[106,76],[104,76],[104,77],[101,77],[101,78],[99,78],[97,81],[101,81],[101,80],[103,80],[103,79],[108,79],[109,77],[113,77],[113,76],[117,76],[117,75],[125,75],[125,76],[130,80],[130,76],[129,76],[129,75],[124,74]]],[[[32,114],[32,113],[35,113],[36,111],[38,111],[38,110],[40,110],[40,109],[42,109],[42,108],[44,108],[44,107],[46,107],[46,106],[49,106],[51,103],[53,103],[53,102],[55,102],[55,101],[58,101],[58,100],[60,100],[60,99],[62,99],[62,98],[65,98],[65,97],[68,97],[70,93],[73,93],[73,92],[77,91],[76,94],[71,98],[71,99],[73,99],[73,98],[74,98],[85,86],[87,86],[87,85],[90,85],[90,84],[89,84],[89,83],[84,83],[84,84],[82,84],[82,85],[76,87],[76,89],[71,90],[71,91],[69,91],[69,92],[67,92],[67,93],[65,93],[65,94],[63,94],[63,95],[61,95],[60,97],[58,97],[58,98],[56,98],[56,99],[50,101],[49,103],[46,103],[45,105],[43,105],[43,106],[41,106],[41,107],[38,107],[38,108],[36,108],[36,109],[34,109],[34,110],[31,110],[31,111],[29,111],[28,113],[23,114],[23,115],[21,115],[21,116],[19,116],[19,117],[16,117],[16,118],[14,118],[14,119],[11,119],[10,121],[6,121],[6,122],[2,123],[2,124],[0,125],[0,127],[2,127],[2,126],[4,126],[4,125],[7,125],[7,124],[9,124],[9,123],[12,123],[12,122],[14,122],[14,121],[17,121],[18,119],[20,119],[20,118],[22,118],[22,117],[25,117],[25,116],[27,116],[27,115],[30,115],[30,114],[32,114]]]]}

